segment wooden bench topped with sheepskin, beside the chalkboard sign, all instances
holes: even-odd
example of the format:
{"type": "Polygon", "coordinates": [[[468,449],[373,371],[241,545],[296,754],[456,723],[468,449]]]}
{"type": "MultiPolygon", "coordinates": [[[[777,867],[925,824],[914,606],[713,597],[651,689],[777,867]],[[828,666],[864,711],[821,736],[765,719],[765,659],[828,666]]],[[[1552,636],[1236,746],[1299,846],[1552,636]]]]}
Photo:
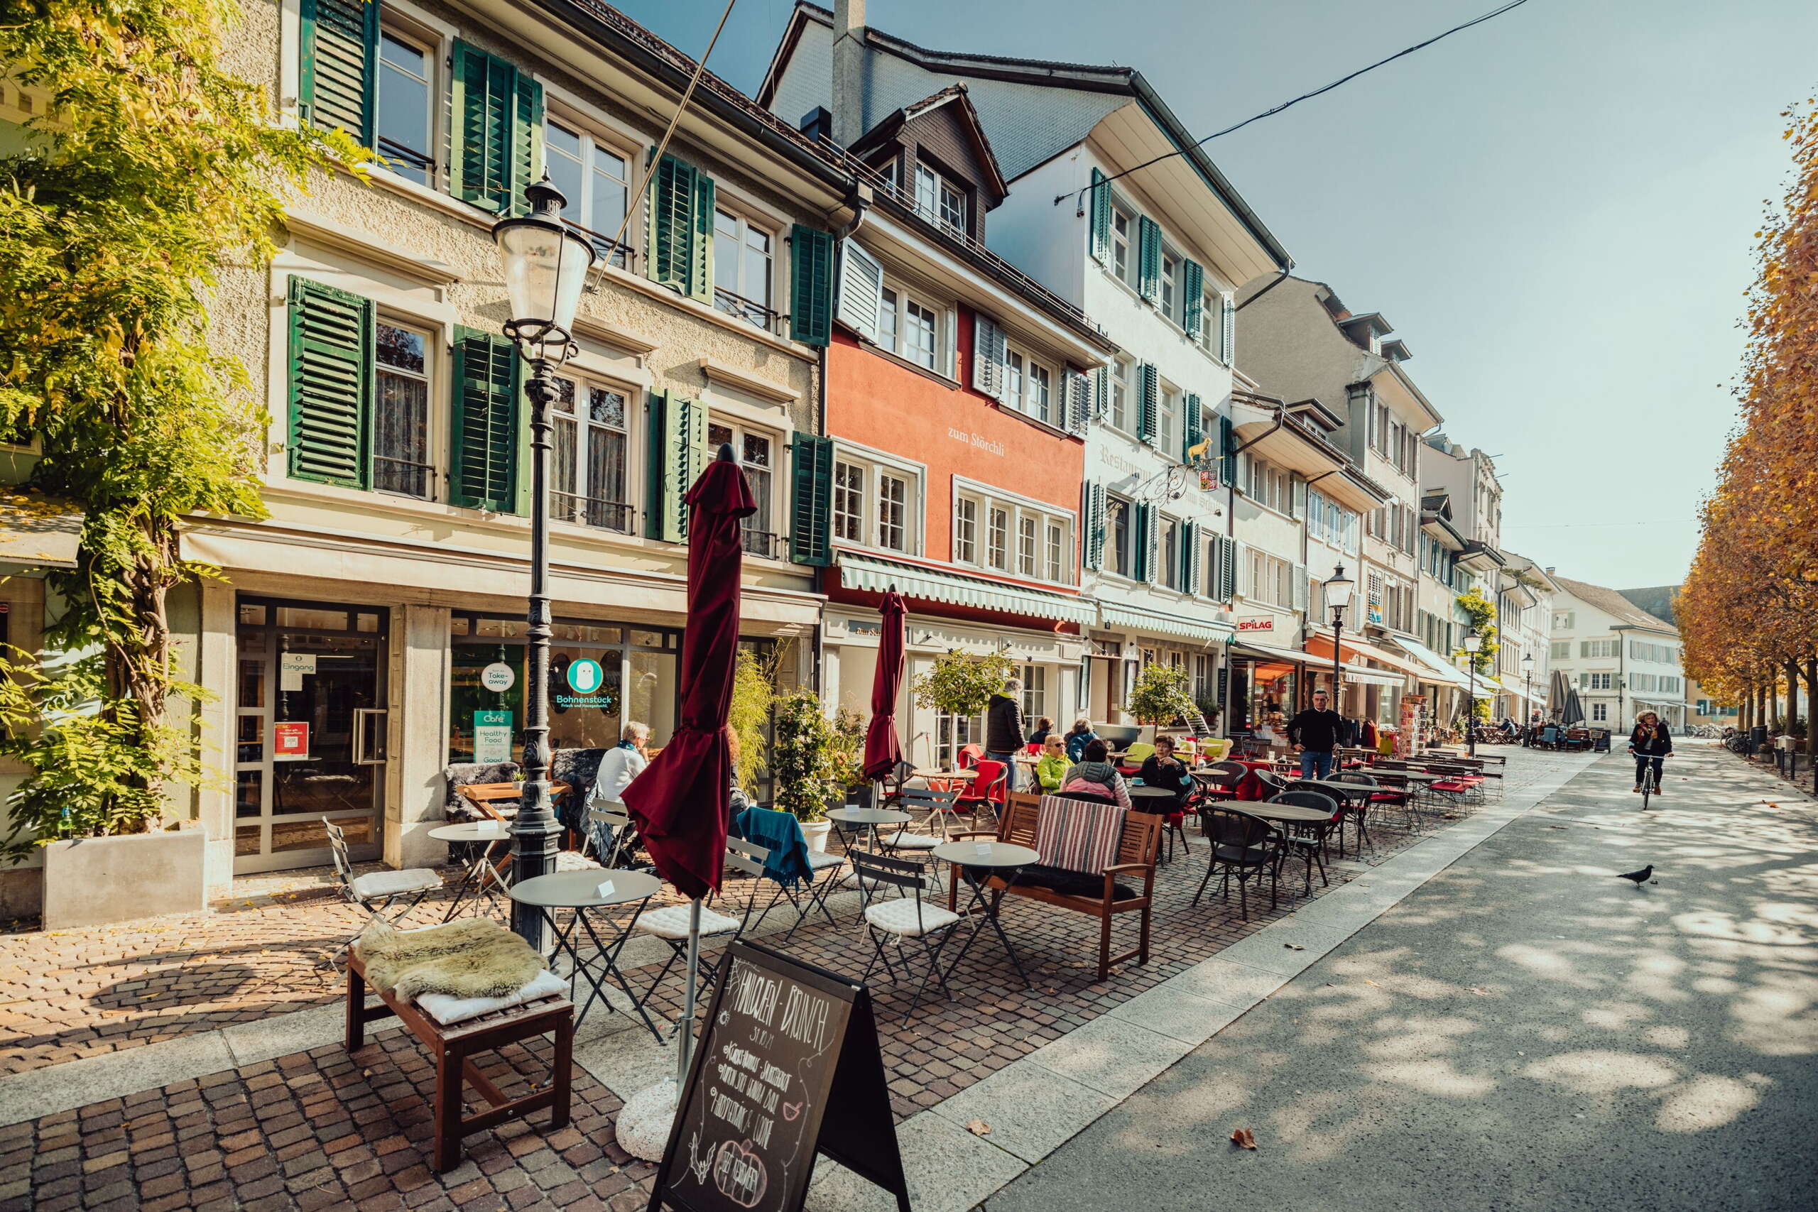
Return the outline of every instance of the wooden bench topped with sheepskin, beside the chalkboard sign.
{"type": "Polygon", "coordinates": [[[464,1137],[507,1119],[547,1107],[551,1128],[567,1125],[574,1067],[574,1007],[564,994],[542,994],[444,1025],[424,1012],[415,998],[425,992],[507,998],[542,972],[542,956],[516,934],[484,918],[425,930],[398,930],[375,919],[349,950],[347,1050],[365,1047],[367,1023],[396,1016],[429,1048],[436,1063],[431,1161],[436,1172],[460,1165],[464,1137]],[[367,1005],[369,985],[371,992],[378,994],[380,1005],[367,1005]],[[544,1034],[554,1036],[554,1072],[549,1085],[531,1094],[507,1099],[473,1063],[474,1056],[544,1034]],[[471,1083],[485,1098],[489,1105],[485,1110],[465,1114],[464,1083],[471,1083]]]}

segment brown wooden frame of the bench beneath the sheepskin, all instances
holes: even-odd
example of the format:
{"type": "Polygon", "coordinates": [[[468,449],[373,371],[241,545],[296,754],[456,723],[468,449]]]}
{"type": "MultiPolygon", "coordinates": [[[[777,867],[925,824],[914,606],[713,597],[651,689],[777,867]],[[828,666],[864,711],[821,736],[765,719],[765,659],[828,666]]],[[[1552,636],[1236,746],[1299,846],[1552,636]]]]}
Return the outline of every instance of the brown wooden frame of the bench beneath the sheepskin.
{"type": "Polygon", "coordinates": [[[436,1063],[436,1127],[431,1161],[436,1172],[460,1165],[460,1143],[467,1136],[533,1110],[551,1108],[551,1130],[567,1127],[574,1070],[574,1005],[567,998],[553,994],[460,1023],[442,1025],[411,1001],[393,996],[391,990],[373,988],[373,992],[380,999],[376,1007],[365,1003],[365,961],[360,959],[358,949],[347,952],[347,1050],[355,1052],[365,1047],[367,1023],[396,1016],[429,1048],[429,1056],[436,1063]],[[505,1098],[504,1090],[473,1063],[474,1056],[545,1034],[554,1034],[553,1072],[549,1085],[531,1094],[505,1098]],[[476,1116],[465,1112],[464,1081],[471,1083],[489,1103],[476,1116]]]}

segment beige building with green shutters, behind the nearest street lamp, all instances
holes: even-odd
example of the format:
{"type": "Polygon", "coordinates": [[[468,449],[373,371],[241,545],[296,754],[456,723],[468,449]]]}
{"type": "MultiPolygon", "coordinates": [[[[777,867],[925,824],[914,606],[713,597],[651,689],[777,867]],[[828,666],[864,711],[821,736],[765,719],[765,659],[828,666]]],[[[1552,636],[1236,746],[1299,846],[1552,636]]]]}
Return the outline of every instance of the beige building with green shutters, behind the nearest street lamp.
{"type": "Polygon", "coordinates": [[[834,233],[853,216],[836,164],[711,76],[640,196],[694,64],[604,5],[282,0],[251,16],[233,58],[285,120],[347,129],[382,160],[298,196],[269,271],[220,294],[222,353],[271,414],[271,516],[185,536],[224,572],[196,594],[189,645],[227,776],[195,807],[213,887],[325,863],[324,816],[356,858],[440,859],[444,770],[520,756],[527,403],[491,225],[545,173],[598,251],[556,405],[558,761],[633,720],[656,745],[674,727],[682,494],[720,443],[758,500],[744,636],[813,678],[824,556],[793,534],[794,460],[820,432],[834,233]]]}

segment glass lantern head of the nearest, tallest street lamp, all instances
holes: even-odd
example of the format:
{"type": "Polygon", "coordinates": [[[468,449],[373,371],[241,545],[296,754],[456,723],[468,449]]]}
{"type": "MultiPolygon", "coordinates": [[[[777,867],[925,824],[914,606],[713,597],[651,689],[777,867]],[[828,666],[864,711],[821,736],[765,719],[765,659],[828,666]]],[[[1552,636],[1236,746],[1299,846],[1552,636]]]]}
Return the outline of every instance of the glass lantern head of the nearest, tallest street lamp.
{"type": "Polygon", "coordinates": [[[498,243],[505,269],[505,298],[511,303],[505,334],[518,342],[525,356],[560,358],[569,343],[594,251],[591,242],[562,222],[567,198],[547,178],[524,194],[531,213],[493,225],[493,242],[498,243]]]}

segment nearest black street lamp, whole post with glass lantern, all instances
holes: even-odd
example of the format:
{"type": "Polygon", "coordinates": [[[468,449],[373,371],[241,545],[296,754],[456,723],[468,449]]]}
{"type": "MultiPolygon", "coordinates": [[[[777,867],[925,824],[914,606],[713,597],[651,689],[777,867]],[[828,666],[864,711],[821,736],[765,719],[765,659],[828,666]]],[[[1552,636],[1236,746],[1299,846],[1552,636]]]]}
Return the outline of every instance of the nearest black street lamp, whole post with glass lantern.
{"type": "MultiPolygon", "coordinates": [[[[556,367],[574,353],[569,329],[580,305],[593,243],[562,222],[567,198],[547,178],[524,191],[531,213],[493,225],[505,269],[511,318],[505,336],[518,345],[531,374],[531,609],[529,674],[524,689],[524,798],[511,823],[511,876],[533,879],[554,869],[556,821],[549,796],[549,407],[556,367]]],[[[544,918],[531,905],[511,903],[511,929],[542,950],[544,918]]]]}

